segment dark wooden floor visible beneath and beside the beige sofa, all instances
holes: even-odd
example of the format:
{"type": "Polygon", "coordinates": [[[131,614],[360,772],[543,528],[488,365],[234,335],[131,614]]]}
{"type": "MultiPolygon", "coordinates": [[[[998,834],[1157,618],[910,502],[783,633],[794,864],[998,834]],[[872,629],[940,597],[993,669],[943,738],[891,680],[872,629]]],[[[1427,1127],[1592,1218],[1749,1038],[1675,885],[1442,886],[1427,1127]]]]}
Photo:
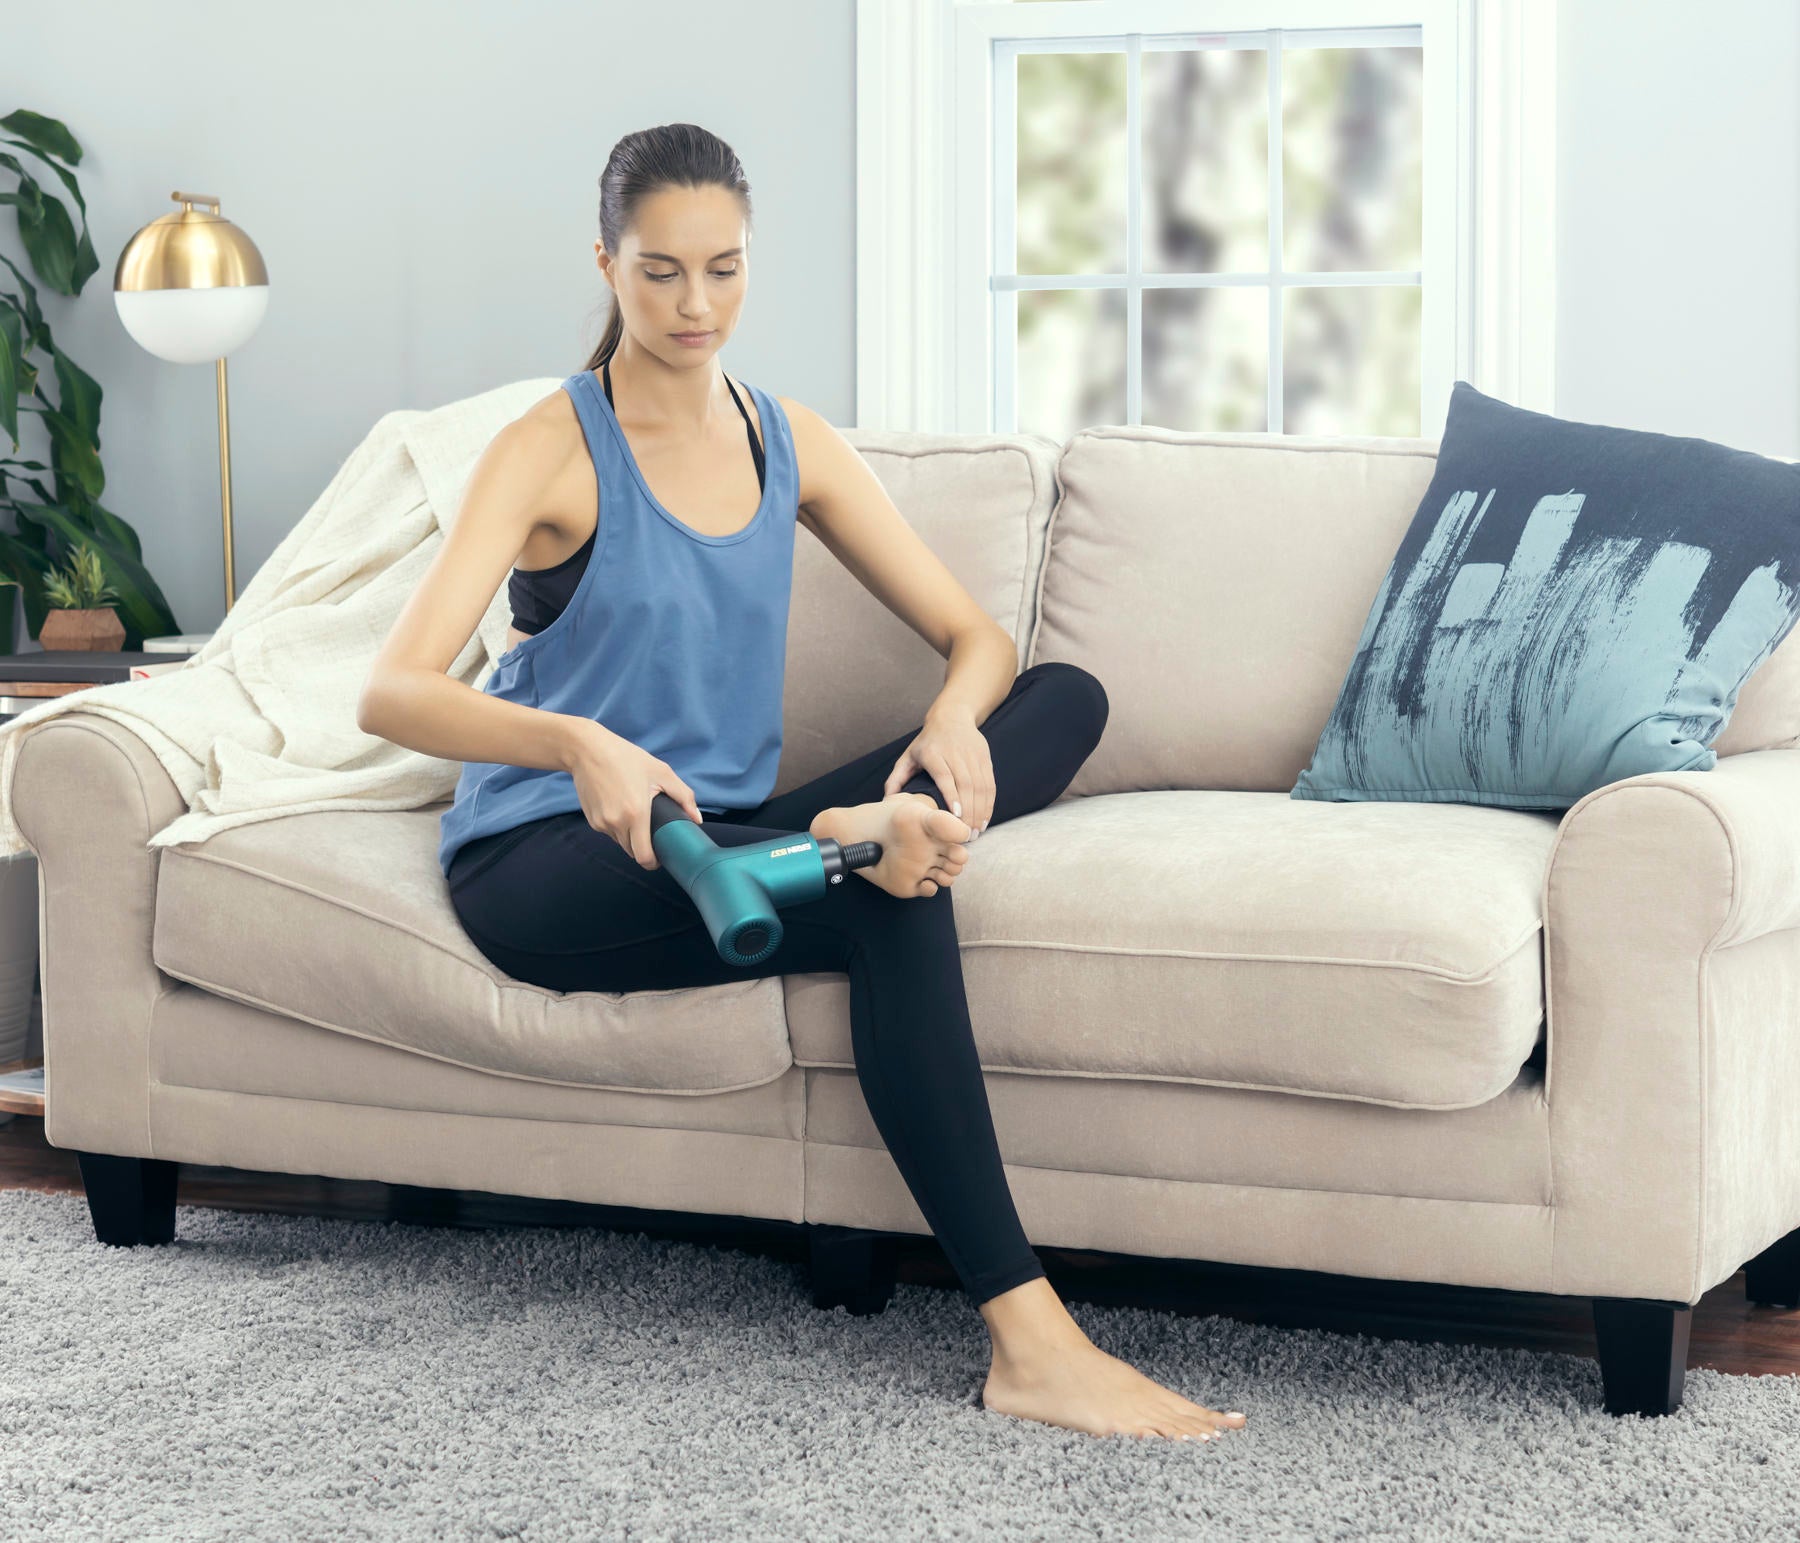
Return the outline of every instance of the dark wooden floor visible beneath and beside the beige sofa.
{"type": "MultiPolygon", "coordinates": [[[[0,1188],[79,1196],[81,1174],[74,1154],[43,1140],[43,1120],[22,1114],[0,1127],[0,1188]]],[[[252,1174],[193,1163],[182,1163],[178,1203],[466,1228],[617,1226],[796,1262],[805,1259],[805,1233],[788,1223],[583,1206],[477,1190],[416,1190],[362,1179],[252,1174]]],[[[1039,1257],[1066,1302],[1130,1304],[1201,1316],[1219,1313],[1247,1323],[1388,1340],[1566,1350],[1589,1359],[1595,1354],[1593,1309],[1582,1296],[1532,1296],[1066,1248],[1040,1248],[1039,1257]]],[[[958,1289],[943,1251],[931,1237],[902,1241],[900,1278],[958,1289]]],[[[1800,1374],[1800,1309],[1751,1307],[1744,1302],[1744,1275],[1739,1271],[1708,1291],[1694,1309],[1688,1365],[1744,1376],[1800,1374]]]]}

